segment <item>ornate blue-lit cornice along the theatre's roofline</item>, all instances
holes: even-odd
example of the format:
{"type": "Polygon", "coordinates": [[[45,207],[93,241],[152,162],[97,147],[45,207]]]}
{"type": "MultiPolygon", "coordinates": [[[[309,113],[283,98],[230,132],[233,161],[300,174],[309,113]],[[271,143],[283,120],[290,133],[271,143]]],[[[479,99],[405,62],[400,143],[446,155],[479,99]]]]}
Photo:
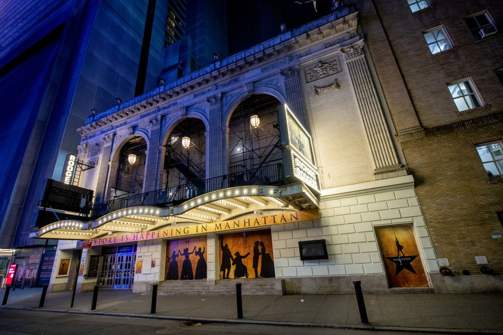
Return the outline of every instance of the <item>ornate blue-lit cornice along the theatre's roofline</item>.
{"type": "Polygon", "coordinates": [[[308,55],[309,49],[314,45],[328,42],[336,36],[340,38],[346,32],[353,31],[357,23],[358,12],[354,6],[343,6],[307,25],[285,31],[260,45],[212,63],[176,81],[165,83],[143,95],[92,115],[86,120],[85,126],[78,128],[77,132],[84,139],[88,133],[92,133],[97,128],[103,128],[120,119],[130,119],[139,112],[151,115],[148,110],[152,105],[162,106],[166,100],[178,100],[189,94],[197,95],[203,91],[204,96],[209,93],[209,87],[224,82],[234,84],[245,72],[263,69],[271,64],[278,68],[279,60],[295,61],[308,55]],[[300,46],[296,47],[299,41],[300,46]]]}

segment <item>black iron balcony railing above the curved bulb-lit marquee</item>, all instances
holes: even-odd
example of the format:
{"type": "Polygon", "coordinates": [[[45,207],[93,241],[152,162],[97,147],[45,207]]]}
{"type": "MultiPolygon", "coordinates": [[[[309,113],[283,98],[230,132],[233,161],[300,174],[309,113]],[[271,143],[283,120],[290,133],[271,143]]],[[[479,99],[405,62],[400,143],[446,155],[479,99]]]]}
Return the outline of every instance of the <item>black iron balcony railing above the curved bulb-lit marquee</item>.
{"type": "Polygon", "coordinates": [[[204,189],[196,187],[194,182],[188,182],[145,193],[120,196],[105,202],[94,203],[91,207],[89,218],[96,219],[115,210],[133,206],[164,207],[167,205],[176,205],[198,195],[227,187],[244,185],[284,185],[285,173],[283,164],[277,163],[262,166],[255,170],[245,170],[204,179],[196,183],[198,185],[203,184],[204,189]]]}

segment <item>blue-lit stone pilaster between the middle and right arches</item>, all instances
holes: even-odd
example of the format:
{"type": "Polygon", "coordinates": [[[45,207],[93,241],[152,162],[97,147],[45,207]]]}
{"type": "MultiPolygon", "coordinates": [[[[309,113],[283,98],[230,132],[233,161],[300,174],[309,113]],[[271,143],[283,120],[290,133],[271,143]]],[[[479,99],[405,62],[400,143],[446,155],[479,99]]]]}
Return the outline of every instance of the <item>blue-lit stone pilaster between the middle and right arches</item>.
{"type": "Polygon", "coordinates": [[[206,132],[206,178],[227,173],[227,152],[224,150],[225,132],[222,132],[222,95],[206,98],[209,103],[209,129],[206,132]]]}

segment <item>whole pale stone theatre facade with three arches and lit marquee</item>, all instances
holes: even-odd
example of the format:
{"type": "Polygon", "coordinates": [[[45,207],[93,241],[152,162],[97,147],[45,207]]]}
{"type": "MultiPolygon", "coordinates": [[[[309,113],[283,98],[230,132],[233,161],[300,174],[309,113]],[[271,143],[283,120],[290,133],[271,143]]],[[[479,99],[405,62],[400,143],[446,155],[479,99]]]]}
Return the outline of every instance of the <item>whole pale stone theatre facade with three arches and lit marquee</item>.
{"type": "Polygon", "coordinates": [[[71,183],[94,201],[33,234],[59,239],[50,290],[438,291],[358,18],[341,8],[93,111],[71,183]]]}

